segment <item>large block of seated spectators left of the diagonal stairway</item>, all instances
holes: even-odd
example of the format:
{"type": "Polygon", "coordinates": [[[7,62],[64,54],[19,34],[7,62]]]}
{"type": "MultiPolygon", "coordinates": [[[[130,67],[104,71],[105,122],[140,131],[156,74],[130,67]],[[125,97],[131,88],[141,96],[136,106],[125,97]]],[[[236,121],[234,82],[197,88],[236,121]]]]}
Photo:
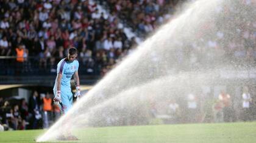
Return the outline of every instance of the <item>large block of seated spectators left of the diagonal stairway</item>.
{"type": "Polygon", "coordinates": [[[89,1],[1,1],[0,8],[0,55],[19,56],[18,65],[38,63],[29,68],[54,72],[56,62],[74,46],[81,67],[100,72],[132,45],[118,19],[99,13],[89,1]]]}

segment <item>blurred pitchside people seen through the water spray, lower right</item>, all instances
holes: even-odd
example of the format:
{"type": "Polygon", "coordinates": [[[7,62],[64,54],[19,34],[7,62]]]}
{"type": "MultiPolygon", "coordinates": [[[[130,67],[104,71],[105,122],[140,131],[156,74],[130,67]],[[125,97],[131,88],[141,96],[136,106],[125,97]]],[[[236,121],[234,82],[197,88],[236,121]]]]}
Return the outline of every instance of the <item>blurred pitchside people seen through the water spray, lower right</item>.
{"type": "Polygon", "coordinates": [[[151,116],[165,124],[237,122],[256,120],[256,91],[253,86],[222,90],[218,95],[191,92],[184,96],[151,102],[151,116]]]}

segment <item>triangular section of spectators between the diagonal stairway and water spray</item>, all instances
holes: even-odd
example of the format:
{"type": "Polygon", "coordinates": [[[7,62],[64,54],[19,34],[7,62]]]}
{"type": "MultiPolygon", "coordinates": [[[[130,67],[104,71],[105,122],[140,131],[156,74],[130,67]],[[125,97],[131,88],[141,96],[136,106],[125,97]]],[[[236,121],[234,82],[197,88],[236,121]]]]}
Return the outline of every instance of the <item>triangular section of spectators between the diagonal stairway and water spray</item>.
{"type": "Polygon", "coordinates": [[[102,5],[110,10],[111,15],[116,15],[124,23],[129,25],[138,33],[138,36],[145,38],[153,32],[160,24],[168,21],[176,11],[179,0],[173,1],[114,1],[108,0],[102,5]]]}

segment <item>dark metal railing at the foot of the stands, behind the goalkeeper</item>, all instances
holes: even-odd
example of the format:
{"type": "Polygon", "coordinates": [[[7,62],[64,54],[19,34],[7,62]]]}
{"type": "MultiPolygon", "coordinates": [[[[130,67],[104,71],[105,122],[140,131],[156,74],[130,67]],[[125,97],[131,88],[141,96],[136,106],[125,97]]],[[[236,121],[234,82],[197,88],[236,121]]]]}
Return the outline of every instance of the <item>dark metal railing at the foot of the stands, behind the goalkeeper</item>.
{"type": "MultiPolygon", "coordinates": [[[[79,60],[79,73],[81,75],[99,75],[99,67],[94,65],[88,67],[86,63],[79,60]]],[[[31,75],[56,75],[59,58],[38,57],[24,58],[23,62],[18,62],[16,56],[0,56],[0,76],[31,76],[31,75]]]]}

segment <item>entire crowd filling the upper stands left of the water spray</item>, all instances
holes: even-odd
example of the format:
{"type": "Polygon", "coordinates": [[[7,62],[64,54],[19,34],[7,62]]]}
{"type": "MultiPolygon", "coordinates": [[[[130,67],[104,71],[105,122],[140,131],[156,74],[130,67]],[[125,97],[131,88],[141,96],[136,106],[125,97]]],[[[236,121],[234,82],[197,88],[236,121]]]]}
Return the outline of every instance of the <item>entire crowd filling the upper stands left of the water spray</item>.
{"type": "MultiPolygon", "coordinates": [[[[110,13],[106,14],[96,2],[90,1],[1,1],[0,55],[19,57],[16,59],[18,71],[2,74],[27,73],[29,70],[54,73],[55,65],[65,57],[66,49],[74,46],[80,52],[78,59],[85,74],[104,75],[137,45],[135,37],[127,38],[122,23],[141,31],[143,37],[155,29],[155,23],[161,24],[169,18],[169,14],[163,14],[173,12],[176,3],[108,1],[110,13]],[[114,9],[113,6],[118,7],[118,4],[119,8],[114,9]],[[130,22],[132,19],[135,21],[130,22]],[[142,25],[144,22],[148,28],[142,25]]],[[[10,61],[3,64],[15,67],[8,63],[10,61]]]]}

